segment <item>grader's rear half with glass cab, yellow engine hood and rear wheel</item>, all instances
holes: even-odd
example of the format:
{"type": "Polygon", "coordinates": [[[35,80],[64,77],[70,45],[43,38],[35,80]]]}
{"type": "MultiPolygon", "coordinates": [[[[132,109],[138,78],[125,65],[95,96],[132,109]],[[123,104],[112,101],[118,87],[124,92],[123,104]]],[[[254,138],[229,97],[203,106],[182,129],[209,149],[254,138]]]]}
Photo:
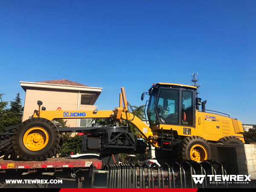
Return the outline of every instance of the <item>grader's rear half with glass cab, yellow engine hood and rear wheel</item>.
{"type": "Polygon", "coordinates": [[[211,159],[212,143],[244,143],[241,122],[217,111],[207,113],[206,101],[200,111],[201,98],[195,98],[196,89],[157,83],[143,93],[150,96],[147,116],[151,131],[157,135],[157,158],[201,162],[211,159]]]}

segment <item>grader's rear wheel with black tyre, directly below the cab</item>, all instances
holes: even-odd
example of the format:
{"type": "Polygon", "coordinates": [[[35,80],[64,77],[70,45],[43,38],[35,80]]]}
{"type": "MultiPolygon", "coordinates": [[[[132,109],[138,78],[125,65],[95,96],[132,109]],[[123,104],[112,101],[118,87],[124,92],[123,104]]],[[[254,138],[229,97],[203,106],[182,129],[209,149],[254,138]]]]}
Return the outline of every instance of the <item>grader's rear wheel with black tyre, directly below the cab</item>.
{"type": "Polygon", "coordinates": [[[202,162],[211,158],[209,142],[199,136],[186,137],[183,139],[177,151],[178,159],[181,161],[193,160],[202,162]]]}

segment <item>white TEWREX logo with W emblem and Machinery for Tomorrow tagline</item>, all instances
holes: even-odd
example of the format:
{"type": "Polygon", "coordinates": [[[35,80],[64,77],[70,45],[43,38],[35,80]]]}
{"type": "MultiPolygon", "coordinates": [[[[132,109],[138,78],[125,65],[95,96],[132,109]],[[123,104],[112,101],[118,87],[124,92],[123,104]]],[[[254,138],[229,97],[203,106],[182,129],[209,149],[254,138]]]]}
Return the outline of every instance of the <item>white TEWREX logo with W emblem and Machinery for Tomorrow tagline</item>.
{"type": "MultiPolygon", "coordinates": [[[[241,183],[240,181],[250,181],[250,175],[207,175],[209,177],[210,183],[215,183],[217,181],[229,182],[234,181],[234,183],[241,183]]],[[[195,184],[202,184],[205,175],[192,175],[195,184]]]]}

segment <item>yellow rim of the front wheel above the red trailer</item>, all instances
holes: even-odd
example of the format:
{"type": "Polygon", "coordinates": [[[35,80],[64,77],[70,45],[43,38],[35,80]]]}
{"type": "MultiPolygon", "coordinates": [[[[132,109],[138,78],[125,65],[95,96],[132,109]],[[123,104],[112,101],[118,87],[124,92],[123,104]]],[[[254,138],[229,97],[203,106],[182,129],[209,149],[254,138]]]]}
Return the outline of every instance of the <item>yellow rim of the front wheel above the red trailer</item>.
{"type": "Polygon", "coordinates": [[[49,134],[44,128],[32,127],[23,136],[23,144],[31,151],[43,149],[49,141],[49,134]]]}

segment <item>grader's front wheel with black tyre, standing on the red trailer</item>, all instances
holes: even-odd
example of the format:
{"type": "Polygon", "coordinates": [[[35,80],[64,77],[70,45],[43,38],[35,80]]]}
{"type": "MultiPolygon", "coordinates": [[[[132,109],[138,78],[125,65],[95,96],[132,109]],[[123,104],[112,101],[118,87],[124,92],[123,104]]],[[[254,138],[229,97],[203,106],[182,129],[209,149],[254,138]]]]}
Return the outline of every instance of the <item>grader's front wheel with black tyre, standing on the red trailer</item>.
{"type": "Polygon", "coordinates": [[[48,119],[40,117],[22,122],[12,137],[16,154],[27,161],[51,157],[59,141],[58,128],[48,119]]]}

